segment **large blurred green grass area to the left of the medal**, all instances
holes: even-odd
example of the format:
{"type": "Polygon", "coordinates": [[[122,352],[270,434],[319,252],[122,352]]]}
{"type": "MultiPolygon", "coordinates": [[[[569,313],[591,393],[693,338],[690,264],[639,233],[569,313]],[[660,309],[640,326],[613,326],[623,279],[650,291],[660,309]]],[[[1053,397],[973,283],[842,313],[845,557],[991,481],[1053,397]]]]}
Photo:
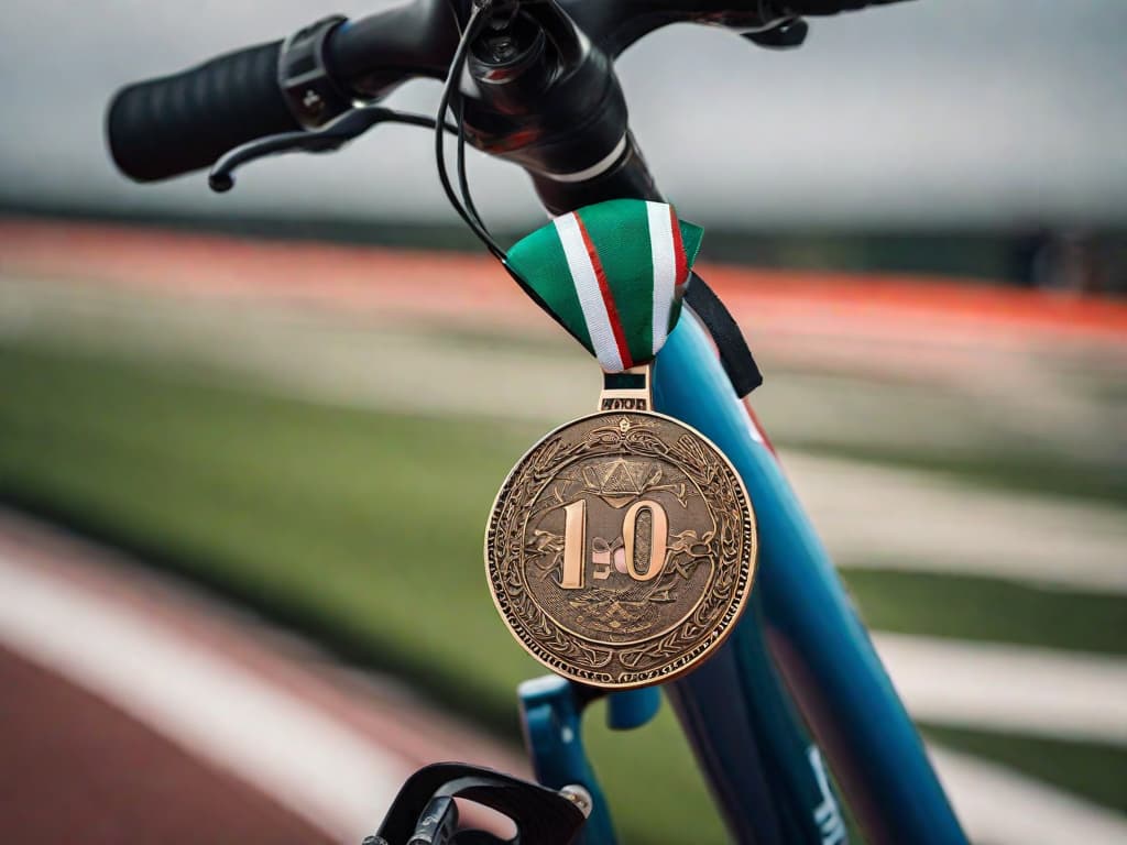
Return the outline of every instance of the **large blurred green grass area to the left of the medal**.
{"type": "Polygon", "coordinates": [[[490,488],[524,438],[47,356],[0,355],[0,383],[5,498],[66,510],[345,642],[374,635],[389,659],[417,652],[424,674],[476,658],[463,674],[482,712],[499,710],[502,677],[532,667],[481,659],[506,641],[474,612],[490,488]],[[480,652],[452,653],[455,622],[480,652]]]}

